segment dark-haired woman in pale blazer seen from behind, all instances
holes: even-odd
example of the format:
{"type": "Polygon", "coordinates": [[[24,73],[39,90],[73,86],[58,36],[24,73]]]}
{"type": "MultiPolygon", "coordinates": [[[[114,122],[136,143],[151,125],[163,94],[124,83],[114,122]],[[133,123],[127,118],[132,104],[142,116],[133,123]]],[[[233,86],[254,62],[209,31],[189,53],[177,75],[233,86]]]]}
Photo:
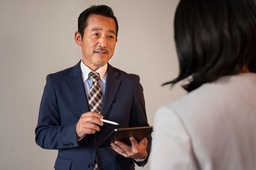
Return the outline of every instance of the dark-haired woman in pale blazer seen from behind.
{"type": "Polygon", "coordinates": [[[151,170],[256,169],[254,0],[180,0],[180,74],[189,93],[154,120],[151,170]]]}

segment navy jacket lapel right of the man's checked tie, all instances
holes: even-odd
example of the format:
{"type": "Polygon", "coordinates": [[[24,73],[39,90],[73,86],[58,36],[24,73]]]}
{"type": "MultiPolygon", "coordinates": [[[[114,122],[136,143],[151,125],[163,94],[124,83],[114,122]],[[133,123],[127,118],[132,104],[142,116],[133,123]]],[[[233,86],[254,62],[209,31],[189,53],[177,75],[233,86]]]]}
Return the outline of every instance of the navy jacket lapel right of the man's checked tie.
{"type": "Polygon", "coordinates": [[[106,78],[106,88],[103,96],[103,105],[101,108],[102,116],[106,117],[108,110],[117,94],[120,80],[117,79],[118,72],[110,64],[108,64],[108,75],[106,78]]]}

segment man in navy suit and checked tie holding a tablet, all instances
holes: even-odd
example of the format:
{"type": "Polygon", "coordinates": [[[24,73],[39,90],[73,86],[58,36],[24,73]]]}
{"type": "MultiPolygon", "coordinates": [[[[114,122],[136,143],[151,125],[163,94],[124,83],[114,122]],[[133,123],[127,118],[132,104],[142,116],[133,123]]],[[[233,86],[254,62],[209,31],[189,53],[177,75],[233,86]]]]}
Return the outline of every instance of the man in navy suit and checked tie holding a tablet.
{"type": "Polygon", "coordinates": [[[135,163],[144,166],[148,161],[150,135],[138,143],[130,137],[132,146],[115,141],[111,148],[98,148],[113,129],[149,126],[139,76],[108,64],[117,32],[110,7],[86,9],[75,32],[82,60],[46,78],[36,143],[58,149],[56,170],[134,170],[135,163]],[[119,125],[103,124],[103,118],[119,125]]]}

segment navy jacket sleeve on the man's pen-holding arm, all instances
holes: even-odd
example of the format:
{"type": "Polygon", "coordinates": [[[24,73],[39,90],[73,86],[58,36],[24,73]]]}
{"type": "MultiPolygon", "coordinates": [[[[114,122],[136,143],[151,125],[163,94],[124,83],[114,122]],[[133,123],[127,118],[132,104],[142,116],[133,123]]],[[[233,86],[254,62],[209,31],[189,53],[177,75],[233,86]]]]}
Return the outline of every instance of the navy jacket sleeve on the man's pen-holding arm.
{"type": "Polygon", "coordinates": [[[76,141],[76,124],[61,125],[58,102],[50,75],[46,78],[35,133],[36,144],[45,149],[79,146],[76,141]]]}

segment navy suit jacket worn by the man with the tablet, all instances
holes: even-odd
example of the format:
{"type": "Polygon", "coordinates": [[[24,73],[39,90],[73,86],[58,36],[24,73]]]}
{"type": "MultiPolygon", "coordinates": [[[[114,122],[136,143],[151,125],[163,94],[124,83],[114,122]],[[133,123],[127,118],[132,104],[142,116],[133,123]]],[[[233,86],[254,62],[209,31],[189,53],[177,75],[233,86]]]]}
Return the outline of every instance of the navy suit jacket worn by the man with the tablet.
{"type": "MultiPolygon", "coordinates": [[[[76,141],[76,123],[83,113],[90,111],[80,62],[47,76],[36,126],[36,143],[45,149],[58,150],[56,170],[92,170],[95,156],[99,170],[134,170],[135,163],[138,166],[147,163],[148,159],[135,162],[111,148],[98,148],[113,129],[149,126],[139,76],[110,64],[107,72],[101,114],[119,125],[104,123],[99,132],[86,135],[79,142],[76,141]]],[[[151,135],[147,139],[150,153],[151,135]]]]}

